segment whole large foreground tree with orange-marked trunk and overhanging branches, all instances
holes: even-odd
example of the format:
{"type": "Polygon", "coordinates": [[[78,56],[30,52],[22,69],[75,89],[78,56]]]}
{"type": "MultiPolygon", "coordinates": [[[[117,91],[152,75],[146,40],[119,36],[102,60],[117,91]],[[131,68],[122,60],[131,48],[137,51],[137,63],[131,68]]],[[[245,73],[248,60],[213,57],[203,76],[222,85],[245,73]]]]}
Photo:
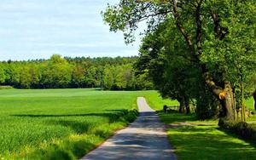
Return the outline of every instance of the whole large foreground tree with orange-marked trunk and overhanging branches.
{"type": "Polygon", "coordinates": [[[223,108],[221,115],[235,120],[232,78],[226,75],[234,71],[230,66],[235,66],[237,54],[245,54],[247,59],[255,54],[255,3],[254,0],[122,0],[108,6],[103,17],[111,31],[125,32],[126,43],[134,40],[139,22],[147,20],[148,33],[171,20],[177,27],[176,34],[183,37],[189,49],[191,62],[200,67],[209,91],[218,98],[223,108]]]}

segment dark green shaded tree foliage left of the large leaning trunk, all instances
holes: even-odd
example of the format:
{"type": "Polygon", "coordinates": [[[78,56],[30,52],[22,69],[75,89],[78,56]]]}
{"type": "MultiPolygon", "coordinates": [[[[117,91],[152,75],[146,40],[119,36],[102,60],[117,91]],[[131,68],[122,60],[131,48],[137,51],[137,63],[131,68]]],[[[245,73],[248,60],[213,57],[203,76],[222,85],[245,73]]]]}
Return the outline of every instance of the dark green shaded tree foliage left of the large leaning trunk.
{"type": "Polygon", "coordinates": [[[135,65],[137,74],[145,72],[165,98],[178,100],[181,106],[193,102],[201,119],[218,116],[218,101],[207,91],[197,65],[189,61],[189,50],[175,35],[176,26],[166,22],[144,37],[140,57],[135,65]]]}

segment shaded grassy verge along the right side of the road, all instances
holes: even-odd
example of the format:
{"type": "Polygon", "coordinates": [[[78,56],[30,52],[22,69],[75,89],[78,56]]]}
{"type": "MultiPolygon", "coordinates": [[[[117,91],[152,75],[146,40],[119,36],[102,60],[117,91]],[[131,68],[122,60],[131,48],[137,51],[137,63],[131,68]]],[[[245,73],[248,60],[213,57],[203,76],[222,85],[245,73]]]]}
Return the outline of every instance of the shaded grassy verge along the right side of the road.
{"type": "MultiPolygon", "coordinates": [[[[166,104],[157,95],[145,97],[156,111],[166,104]]],[[[170,126],[167,134],[178,159],[256,159],[256,143],[218,129],[217,120],[198,121],[193,114],[176,112],[159,115],[170,126]]]]}

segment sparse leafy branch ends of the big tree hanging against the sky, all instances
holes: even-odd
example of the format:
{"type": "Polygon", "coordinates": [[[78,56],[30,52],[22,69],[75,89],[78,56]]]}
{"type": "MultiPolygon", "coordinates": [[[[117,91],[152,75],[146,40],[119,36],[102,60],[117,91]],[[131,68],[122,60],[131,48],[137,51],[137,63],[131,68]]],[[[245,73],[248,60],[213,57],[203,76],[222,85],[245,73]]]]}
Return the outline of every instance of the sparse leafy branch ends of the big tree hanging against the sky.
{"type": "Polygon", "coordinates": [[[135,40],[134,31],[140,22],[145,20],[148,26],[146,32],[152,31],[171,12],[170,4],[158,2],[122,0],[119,4],[108,5],[102,17],[110,31],[123,31],[125,43],[132,43],[135,40]]]}

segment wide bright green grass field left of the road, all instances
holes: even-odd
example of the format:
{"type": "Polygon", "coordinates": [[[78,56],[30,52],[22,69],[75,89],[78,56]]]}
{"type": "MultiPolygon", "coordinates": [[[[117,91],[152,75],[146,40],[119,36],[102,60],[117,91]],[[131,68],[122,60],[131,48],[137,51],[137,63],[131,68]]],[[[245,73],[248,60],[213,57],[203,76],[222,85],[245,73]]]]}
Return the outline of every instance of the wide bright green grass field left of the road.
{"type": "Polygon", "coordinates": [[[0,90],[0,157],[68,158],[84,154],[136,117],[137,96],[155,91],[0,90]]]}

